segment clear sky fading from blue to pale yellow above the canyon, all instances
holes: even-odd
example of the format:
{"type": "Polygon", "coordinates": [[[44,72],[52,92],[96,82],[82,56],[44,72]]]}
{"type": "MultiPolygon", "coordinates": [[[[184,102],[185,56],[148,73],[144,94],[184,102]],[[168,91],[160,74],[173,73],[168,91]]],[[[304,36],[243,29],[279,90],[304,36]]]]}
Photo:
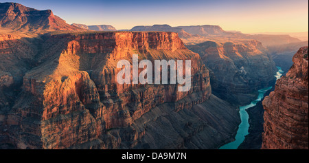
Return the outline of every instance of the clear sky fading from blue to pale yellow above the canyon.
{"type": "MultiPolygon", "coordinates": [[[[0,2],[5,2],[1,1],[0,2]]],[[[220,25],[243,33],[308,32],[308,0],[15,0],[50,9],[67,23],[113,25],[220,25]]]]}

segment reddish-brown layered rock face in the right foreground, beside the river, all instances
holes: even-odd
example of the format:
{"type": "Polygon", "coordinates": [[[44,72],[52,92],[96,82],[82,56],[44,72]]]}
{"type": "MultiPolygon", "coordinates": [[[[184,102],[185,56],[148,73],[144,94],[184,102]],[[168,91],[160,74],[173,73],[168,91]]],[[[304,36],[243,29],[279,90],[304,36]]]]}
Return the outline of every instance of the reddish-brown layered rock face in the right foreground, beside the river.
{"type": "Polygon", "coordinates": [[[299,49],[293,62],[263,100],[262,149],[308,149],[308,46],[299,49]]]}

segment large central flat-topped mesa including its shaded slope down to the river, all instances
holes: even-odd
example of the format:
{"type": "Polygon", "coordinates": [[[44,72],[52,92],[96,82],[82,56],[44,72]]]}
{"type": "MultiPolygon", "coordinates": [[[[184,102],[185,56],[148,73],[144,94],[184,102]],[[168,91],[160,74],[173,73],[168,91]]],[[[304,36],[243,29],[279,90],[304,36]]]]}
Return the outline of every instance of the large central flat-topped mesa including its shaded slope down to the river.
{"type": "MultiPolygon", "coordinates": [[[[211,96],[208,69],[176,33],[45,34],[35,45],[21,89],[1,107],[1,148],[216,149],[240,123],[236,107],[211,96]],[[190,91],[117,84],[117,61],[132,61],[133,54],[190,59],[190,91]]],[[[10,85],[10,74],[1,72],[1,87],[10,85]]]]}

